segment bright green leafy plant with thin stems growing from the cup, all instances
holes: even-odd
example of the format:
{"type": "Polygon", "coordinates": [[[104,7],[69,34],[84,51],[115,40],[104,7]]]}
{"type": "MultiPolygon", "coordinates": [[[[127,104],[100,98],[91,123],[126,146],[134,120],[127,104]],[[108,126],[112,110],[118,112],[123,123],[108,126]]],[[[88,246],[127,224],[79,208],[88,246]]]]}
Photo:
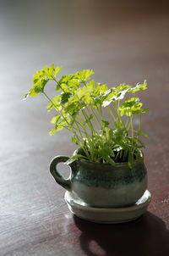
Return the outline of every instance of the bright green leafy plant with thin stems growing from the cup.
{"type": "Polygon", "coordinates": [[[147,82],[136,86],[123,83],[108,88],[106,84],[90,81],[93,70],[78,71],[57,79],[61,69],[52,64],[38,70],[25,98],[41,93],[49,101],[46,109],[57,112],[51,120],[54,126],[50,135],[63,128],[72,132],[72,142],[80,149],[68,160],[68,164],[75,159],[86,159],[109,164],[128,162],[132,167],[134,160],[141,158],[140,148],[144,147],[139,136],[147,136],[141,130],[141,115],[148,109],[142,108],[135,93],[145,90],[147,82]],[[45,91],[49,81],[56,83],[58,93],[53,98],[45,91]],[[106,109],[106,116],[109,114],[108,120],[105,120],[103,109],[106,109]],[[137,127],[134,125],[135,115],[139,116],[137,127]]]}

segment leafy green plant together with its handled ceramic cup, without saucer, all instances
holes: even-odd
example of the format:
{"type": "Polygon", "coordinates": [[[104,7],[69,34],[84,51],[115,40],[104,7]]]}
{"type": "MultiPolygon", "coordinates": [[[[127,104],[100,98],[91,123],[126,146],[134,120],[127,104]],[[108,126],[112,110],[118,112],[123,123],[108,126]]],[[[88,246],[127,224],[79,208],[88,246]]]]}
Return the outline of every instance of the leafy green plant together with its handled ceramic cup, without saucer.
{"type": "MultiPolygon", "coordinates": [[[[25,98],[40,93],[45,96],[46,109],[54,111],[49,134],[53,136],[67,129],[78,147],[70,158],[52,159],[53,177],[66,188],[69,196],[74,195],[88,209],[134,206],[147,189],[147,171],[141,151],[144,143],[139,137],[147,136],[141,128],[141,116],[148,109],[143,108],[136,96],[147,88],[147,82],[135,86],[122,83],[109,88],[90,80],[93,70],[78,71],[58,79],[61,70],[54,64],[38,70],[33,75],[33,86],[25,94],[25,98]],[[57,91],[52,98],[46,93],[46,84],[50,81],[55,82],[57,91]],[[71,168],[67,180],[57,172],[57,164],[61,162],[71,168]]],[[[70,201],[67,197],[67,203],[71,204],[70,201]]]]}

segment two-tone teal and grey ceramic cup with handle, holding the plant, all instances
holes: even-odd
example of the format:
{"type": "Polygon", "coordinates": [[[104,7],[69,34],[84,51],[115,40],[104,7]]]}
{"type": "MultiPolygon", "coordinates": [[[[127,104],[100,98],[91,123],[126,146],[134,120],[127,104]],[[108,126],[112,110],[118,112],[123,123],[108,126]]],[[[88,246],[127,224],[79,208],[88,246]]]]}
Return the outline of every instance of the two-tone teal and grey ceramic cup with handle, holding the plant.
{"type": "Polygon", "coordinates": [[[70,166],[70,176],[64,179],[57,172],[57,164],[66,162],[67,156],[52,159],[50,171],[55,181],[75,193],[92,207],[123,207],[136,203],[147,188],[147,171],[144,160],[127,163],[100,164],[76,160],[70,166]]]}

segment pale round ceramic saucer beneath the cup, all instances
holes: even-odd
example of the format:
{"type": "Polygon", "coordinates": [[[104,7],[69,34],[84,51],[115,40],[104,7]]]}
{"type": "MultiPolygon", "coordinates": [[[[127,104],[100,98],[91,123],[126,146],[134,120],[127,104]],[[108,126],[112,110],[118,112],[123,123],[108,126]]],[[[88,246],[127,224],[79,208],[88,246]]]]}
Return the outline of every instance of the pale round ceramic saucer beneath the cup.
{"type": "Polygon", "coordinates": [[[79,218],[96,223],[115,224],[135,220],[144,214],[150,203],[151,194],[146,190],[137,203],[123,208],[91,207],[81,201],[74,193],[68,191],[65,193],[64,198],[68,203],[68,209],[79,218]]]}

